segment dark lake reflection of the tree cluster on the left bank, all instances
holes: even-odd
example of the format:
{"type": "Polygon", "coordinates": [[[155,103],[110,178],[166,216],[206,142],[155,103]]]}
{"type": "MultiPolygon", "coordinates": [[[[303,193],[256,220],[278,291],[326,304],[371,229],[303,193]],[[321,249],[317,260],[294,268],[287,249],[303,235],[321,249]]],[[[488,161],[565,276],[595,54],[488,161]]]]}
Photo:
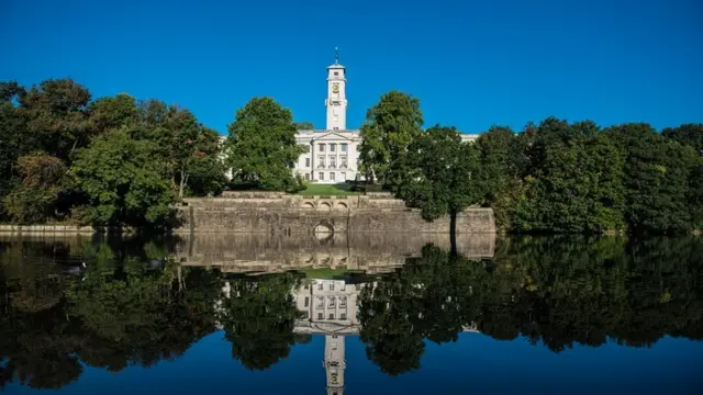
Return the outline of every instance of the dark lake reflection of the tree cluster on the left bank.
{"type": "Polygon", "coordinates": [[[44,249],[2,247],[2,385],[59,388],[78,379],[81,361],[110,371],[153,365],[215,329],[216,272],[174,262],[147,271],[133,255],[115,264],[115,251],[101,242],[82,250],[91,264],[81,281],[54,264],[24,264],[44,249]]]}

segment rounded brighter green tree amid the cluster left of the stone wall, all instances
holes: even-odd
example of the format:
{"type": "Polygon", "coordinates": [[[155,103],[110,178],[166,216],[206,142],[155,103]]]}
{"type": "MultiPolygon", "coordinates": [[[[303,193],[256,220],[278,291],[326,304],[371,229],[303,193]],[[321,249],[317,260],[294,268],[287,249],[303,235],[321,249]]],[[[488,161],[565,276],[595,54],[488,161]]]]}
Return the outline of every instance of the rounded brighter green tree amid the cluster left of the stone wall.
{"type": "Polygon", "coordinates": [[[72,173],[90,198],[87,217],[101,226],[165,226],[175,193],[154,161],[156,146],[129,131],[96,137],[76,155],[72,173]]]}

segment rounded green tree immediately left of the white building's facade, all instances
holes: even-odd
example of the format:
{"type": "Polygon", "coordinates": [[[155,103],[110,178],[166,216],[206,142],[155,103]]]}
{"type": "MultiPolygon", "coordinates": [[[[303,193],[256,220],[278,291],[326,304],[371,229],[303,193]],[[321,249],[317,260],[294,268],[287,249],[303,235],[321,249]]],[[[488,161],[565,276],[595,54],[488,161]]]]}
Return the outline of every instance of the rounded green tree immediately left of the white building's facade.
{"type": "Polygon", "coordinates": [[[292,168],[302,148],[295,144],[295,125],[288,109],[271,98],[254,98],[237,110],[226,140],[227,166],[234,179],[265,190],[301,188],[292,168]]]}

